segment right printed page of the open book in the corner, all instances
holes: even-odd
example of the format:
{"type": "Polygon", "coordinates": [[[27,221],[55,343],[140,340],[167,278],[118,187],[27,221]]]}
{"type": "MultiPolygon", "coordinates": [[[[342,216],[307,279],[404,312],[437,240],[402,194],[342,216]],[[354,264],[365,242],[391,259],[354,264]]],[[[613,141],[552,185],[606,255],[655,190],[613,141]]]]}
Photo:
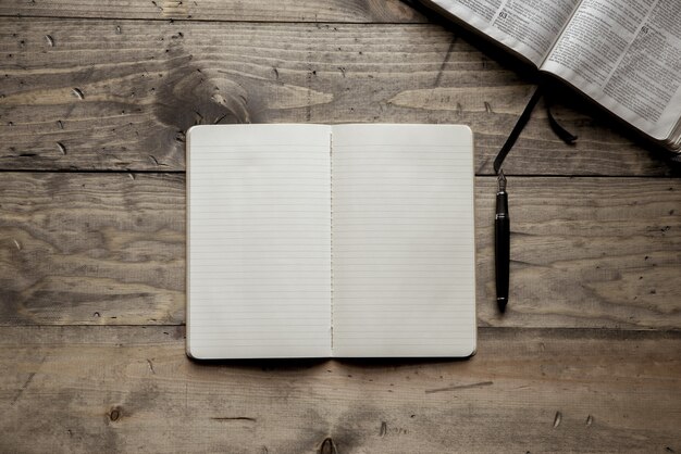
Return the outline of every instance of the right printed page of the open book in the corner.
{"type": "Polygon", "coordinates": [[[681,1],[583,0],[541,68],[666,139],[681,116],[681,1]]]}

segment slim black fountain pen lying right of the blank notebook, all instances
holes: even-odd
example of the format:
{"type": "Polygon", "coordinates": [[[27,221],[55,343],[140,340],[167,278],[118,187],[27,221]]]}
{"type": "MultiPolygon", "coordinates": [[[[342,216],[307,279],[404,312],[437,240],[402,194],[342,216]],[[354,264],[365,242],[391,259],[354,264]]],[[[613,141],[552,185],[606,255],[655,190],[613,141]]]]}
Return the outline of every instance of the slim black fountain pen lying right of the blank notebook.
{"type": "Polygon", "coordinates": [[[508,193],[504,171],[497,177],[496,216],[494,219],[494,256],[496,275],[496,303],[499,311],[508,304],[508,275],[510,267],[510,218],[508,217],[508,193]]]}

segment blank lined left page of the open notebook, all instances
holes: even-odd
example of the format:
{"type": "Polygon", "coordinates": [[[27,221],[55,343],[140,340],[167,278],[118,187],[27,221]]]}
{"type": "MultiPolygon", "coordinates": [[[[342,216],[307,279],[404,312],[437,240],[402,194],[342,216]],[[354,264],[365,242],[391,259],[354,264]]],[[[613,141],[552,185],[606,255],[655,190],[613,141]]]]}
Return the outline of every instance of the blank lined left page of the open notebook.
{"type": "Polygon", "coordinates": [[[331,356],[331,128],[187,134],[187,354],[331,356]]]}

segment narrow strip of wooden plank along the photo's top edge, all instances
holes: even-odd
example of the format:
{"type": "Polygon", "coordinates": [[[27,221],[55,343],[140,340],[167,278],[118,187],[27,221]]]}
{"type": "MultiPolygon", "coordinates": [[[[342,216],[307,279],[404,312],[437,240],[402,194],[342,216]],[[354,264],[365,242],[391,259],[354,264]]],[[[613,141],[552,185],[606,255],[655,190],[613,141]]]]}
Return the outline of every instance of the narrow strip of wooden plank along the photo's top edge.
{"type": "Polygon", "coordinates": [[[400,0],[3,0],[0,15],[226,22],[425,21],[420,12],[400,0]]]}

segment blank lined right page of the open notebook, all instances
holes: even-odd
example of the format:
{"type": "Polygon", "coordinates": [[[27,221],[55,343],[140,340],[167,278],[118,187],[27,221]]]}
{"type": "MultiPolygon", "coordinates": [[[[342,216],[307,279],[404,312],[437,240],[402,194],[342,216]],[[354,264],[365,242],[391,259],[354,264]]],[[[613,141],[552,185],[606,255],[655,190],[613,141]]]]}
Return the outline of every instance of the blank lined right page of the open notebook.
{"type": "Polygon", "coordinates": [[[333,355],[472,354],[470,129],[340,125],[332,137],[333,355]]]}

